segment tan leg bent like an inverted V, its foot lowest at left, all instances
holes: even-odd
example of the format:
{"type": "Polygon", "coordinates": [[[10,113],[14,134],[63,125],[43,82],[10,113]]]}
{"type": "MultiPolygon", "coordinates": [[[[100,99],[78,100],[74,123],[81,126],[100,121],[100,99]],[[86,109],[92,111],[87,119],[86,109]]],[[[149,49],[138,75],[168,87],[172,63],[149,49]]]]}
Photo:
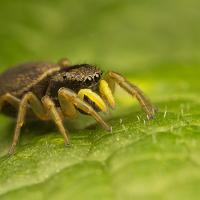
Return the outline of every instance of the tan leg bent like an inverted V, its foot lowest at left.
{"type": "MultiPolygon", "coordinates": [[[[10,95],[7,95],[7,98],[9,99],[8,102],[11,103],[11,104],[12,104],[12,101],[16,100],[15,97],[13,98],[10,95]]],[[[18,100],[16,102],[18,102],[18,100]]],[[[45,112],[40,100],[31,92],[25,94],[24,97],[22,98],[22,100],[19,102],[17,123],[16,123],[16,127],[15,127],[12,145],[11,145],[11,148],[9,150],[9,154],[13,154],[14,151],[15,151],[16,145],[17,145],[17,143],[19,141],[19,137],[20,137],[21,127],[24,124],[27,108],[28,108],[29,105],[30,105],[31,109],[33,110],[34,114],[39,119],[41,119],[41,120],[47,120],[48,119],[46,112],[45,112]]]]}

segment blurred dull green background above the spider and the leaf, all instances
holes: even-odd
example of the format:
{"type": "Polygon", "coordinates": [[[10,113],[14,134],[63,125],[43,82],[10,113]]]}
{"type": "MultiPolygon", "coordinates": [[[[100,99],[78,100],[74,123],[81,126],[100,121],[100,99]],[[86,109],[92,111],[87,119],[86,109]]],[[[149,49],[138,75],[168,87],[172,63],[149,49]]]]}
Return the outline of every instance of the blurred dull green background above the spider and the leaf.
{"type": "Polygon", "coordinates": [[[0,66],[63,56],[129,71],[199,63],[199,6],[195,0],[1,0],[0,66]]]}

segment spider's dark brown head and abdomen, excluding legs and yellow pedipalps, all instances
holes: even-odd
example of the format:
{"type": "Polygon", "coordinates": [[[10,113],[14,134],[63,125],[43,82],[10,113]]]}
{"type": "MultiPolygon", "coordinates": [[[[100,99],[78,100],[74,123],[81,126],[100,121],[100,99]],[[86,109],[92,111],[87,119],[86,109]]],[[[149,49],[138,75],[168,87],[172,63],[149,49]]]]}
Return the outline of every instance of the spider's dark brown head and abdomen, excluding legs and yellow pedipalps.
{"type": "MultiPolygon", "coordinates": [[[[58,90],[61,87],[75,92],[82,88],[90,88],[98,93],[97,87],[101,71],[94,66],[91,69],[90,67],[87,64],[63,67],[48,62],[21,64],[0,75],[0,96],[10,93],[18,99],[22,99],[27,92],[33,92],[41,99],[47,94],[59,107],[58,90]]],[[[92,102],[89,103],[92,104],[92,102]]],[[[96,108],[95,105],[93,106],[96,108]]],[[[12,117],[16,117],[17,112],[8,103],[5,103],[2,108],[2,113],[12,117]]],[[[28,117],[33,118],[33,116],[32,111],[28,110],[28,117]]]]}

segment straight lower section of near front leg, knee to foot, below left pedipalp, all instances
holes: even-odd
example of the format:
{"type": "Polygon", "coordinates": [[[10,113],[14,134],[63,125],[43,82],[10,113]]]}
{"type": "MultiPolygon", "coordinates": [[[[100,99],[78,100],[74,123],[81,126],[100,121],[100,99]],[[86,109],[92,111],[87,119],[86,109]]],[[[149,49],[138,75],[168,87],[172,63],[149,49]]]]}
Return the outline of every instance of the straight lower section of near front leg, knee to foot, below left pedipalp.
{"type": "Polygon", "coordinates": [[[71,102],[76,108],[79,108],[85,113],[91,115],[107,131],[112,130],[112,128],[101,118],[101,116],[73,91],[67,88],[61,88],[58,91],[58,96],[65,99],[67,102],[71,102]]]}

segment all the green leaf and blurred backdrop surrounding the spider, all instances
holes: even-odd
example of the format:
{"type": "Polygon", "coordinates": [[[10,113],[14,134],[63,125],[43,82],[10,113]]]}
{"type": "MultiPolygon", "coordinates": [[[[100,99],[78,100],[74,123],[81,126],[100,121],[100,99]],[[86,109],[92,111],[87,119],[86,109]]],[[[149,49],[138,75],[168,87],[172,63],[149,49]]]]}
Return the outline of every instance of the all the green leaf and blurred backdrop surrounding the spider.
{"type": "Polygon", "coordinates": [[[200,13],[195,0],[2,1],[1,71],[67,56],[139,85],[159,108],[147,121],[120,88],[104,131],[88,116],[26,123],[8,157],[15,121],[0,117],[0,199],[199,199],[200,13]]]}

